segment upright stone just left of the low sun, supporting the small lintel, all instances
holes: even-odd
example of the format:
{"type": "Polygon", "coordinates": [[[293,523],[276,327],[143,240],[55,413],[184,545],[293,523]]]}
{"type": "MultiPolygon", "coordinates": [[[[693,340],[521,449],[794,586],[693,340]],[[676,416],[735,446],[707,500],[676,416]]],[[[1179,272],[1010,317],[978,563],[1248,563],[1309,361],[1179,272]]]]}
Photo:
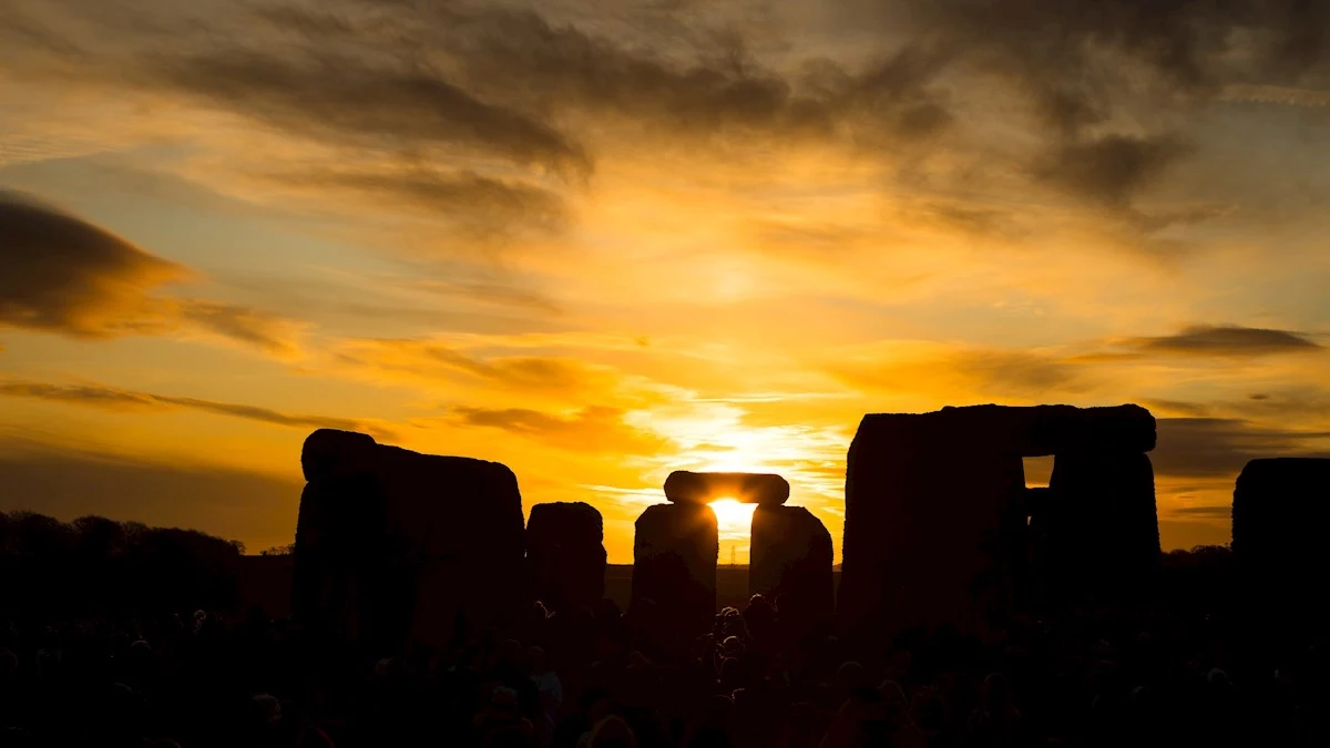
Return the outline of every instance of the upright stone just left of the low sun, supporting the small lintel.
{"type": "Polygon", "coordinates": [[[716,614],[716,512],[706,504],[654,504],[637,518],[630,608],[672,636],[705,634],[716,614]]]}

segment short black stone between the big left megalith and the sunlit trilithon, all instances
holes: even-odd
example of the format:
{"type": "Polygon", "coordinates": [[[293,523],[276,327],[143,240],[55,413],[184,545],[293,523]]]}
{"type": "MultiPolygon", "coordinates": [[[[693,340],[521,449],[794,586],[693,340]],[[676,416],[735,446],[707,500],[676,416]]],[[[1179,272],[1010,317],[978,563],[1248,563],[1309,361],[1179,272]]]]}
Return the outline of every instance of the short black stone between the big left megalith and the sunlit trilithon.
{"type": "Polygon", "coordinates": [[[595,606],[605,596],[604,523],[584,502],[531,507],[527,566],[536,599],[553,612],[595,606]]]}

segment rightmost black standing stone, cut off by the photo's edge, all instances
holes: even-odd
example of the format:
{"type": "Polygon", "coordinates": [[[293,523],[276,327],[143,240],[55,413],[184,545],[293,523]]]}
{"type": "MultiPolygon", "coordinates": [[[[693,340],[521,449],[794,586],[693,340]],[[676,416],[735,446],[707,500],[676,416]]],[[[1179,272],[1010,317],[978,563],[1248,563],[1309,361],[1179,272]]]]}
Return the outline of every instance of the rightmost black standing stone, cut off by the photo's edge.
{"type": "Polygon", "coordinates": [[[1233,488],[1233,563],[1241,608],[1261,634],[1330,628],[1330,459],[1253,459],[1233,488]]]}

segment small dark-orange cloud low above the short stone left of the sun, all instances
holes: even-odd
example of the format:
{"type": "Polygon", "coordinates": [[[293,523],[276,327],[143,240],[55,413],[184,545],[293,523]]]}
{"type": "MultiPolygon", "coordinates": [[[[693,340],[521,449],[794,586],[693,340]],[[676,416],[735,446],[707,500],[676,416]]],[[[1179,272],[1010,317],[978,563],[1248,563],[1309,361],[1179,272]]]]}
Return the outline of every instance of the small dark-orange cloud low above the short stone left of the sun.
{"type": "Polygon", "coordinates": [[[626,425],[624,411],[613,407],[588,407],[572,415],[516,407],[455,407],[452,413],[462,425],[501,429],[561,450],[640,457],[660,454],[672,446],[664,437],[626,425]]]}

